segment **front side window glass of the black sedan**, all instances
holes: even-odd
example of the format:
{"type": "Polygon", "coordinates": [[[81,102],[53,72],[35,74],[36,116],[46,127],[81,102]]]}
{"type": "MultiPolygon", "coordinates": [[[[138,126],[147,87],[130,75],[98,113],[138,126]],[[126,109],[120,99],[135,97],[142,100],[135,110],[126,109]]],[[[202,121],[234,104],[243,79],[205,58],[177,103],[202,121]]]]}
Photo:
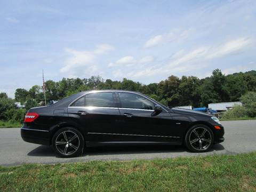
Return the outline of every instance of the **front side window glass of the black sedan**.
{"type": "Polygon", "coordinates": [[[154,110],[154,103],[134,93],[118,93],[122,108],[154,110]]]}

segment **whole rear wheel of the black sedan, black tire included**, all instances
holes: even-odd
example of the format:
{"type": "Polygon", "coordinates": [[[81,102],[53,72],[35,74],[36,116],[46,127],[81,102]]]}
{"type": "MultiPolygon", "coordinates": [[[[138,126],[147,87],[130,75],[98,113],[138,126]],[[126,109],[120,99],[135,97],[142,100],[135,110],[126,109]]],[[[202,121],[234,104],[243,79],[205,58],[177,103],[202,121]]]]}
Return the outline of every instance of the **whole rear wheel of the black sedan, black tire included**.
{"type": "Polygon", "coordinates": [[[73,127],[63,127],[53,135],[52,146],[60,157],[77,157],[83,153],[84,137],[73,127]]]}

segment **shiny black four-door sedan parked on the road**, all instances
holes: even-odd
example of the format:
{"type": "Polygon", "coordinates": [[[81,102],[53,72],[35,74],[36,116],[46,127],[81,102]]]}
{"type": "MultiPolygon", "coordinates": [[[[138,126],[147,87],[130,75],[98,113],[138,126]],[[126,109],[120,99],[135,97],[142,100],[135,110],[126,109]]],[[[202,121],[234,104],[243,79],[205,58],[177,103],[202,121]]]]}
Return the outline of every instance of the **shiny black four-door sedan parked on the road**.
{"type": "Polygon", "coordinates": [[[52,145],[62,157],[99,145],[182,145],[194,152],[224,141],[219,119],[202,112],[168,108],[133,91],[86,91],[50,106],[29,109],[24,141],[52,145]]]}

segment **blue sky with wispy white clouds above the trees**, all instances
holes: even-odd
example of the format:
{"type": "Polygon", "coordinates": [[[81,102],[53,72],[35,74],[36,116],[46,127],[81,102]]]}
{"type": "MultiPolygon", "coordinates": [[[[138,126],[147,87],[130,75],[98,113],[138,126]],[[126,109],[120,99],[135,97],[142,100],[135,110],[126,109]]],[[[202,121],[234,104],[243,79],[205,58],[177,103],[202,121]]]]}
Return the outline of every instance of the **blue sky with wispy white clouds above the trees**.
{"type": "Polygon", "coordinates": [[[256,1],[1,1],[0,92],[256,70],[256,1]]]}

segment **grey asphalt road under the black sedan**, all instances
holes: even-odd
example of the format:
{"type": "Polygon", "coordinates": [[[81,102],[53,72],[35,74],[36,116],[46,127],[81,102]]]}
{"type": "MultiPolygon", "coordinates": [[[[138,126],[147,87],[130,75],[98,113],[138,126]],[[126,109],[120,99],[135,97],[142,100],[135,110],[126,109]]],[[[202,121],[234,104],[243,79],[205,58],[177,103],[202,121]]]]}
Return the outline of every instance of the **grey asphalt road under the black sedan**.
{"type": "Polygon", "coordinates": [[[214,145],[207,153],[191,153],[183,146],[127,146],[88,148],[81,157],[55,157],[51,147],[27,143],[20,137],[19,128],[0,129],[0,165],[23,163],[67,163],[91,160],[131,160],[202,156],[213,154],[237,154],[256,151],[256,120],[226,121],[225,141],[214,145]]]}

